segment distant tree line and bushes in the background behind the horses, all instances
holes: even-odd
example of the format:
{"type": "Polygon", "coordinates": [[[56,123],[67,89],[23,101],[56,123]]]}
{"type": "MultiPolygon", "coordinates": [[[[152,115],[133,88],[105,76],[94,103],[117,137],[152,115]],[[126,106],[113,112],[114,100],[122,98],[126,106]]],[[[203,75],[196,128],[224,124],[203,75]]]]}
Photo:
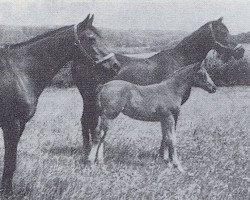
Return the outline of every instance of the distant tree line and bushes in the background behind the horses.
{"type": "MultiPolygon", "coordinates": [[[[17,43],[53,27],[0,26],[0,45],[17,43]]],[[[115,53],[145,53],[174,47],[188,33],[181,31],[145,31],[101,29],[109,48],[115,53]]],[[[232,36],[237,43],[250,43],[250,32],[232,36]]],[[[250,65],[246,59],[231,59],[222,64],[220,60],[208,58],[208,71],[218,86],[250,85],[250,65]]],[[[71,63],[67,64],[55,76],[51,85],[71,87],[74,85],[70,73],[71,63]]]]}

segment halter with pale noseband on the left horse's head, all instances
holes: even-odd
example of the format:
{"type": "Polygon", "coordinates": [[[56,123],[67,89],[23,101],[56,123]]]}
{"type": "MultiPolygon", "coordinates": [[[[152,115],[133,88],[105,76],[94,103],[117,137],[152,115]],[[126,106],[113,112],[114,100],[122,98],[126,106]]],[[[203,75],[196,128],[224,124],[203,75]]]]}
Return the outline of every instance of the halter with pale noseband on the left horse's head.
{"type": "Polygon", "coordinates": [[[80,51],[89,59],[91,60],[91,62],[93,63],[93,65],[98,65],[101,63],[104,63],[106,61],[108,61],[110,58],[114,57],[115,54],[114,53],[110,53],[107,56],[104,56],[103,58],[101,58],[100,60],[95,61],[86,51],[86,49],[82,46],[81,41],[79,39],[79,36],[77,34],[77,26],[78,24],[74,25],[74,36],[75,36],[75,45],[80,49],[80,51]]]}

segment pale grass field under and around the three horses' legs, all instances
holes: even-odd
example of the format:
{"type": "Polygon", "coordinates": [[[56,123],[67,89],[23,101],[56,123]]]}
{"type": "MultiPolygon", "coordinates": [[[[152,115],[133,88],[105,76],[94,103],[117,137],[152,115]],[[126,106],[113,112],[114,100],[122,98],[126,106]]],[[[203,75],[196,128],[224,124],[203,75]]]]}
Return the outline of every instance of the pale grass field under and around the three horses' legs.
{"type": "Polygon", "coordinates": [[[19,143],[10,199],[247,200],[249,100],[250,87],[219,88],[212,95],[194,90],[177,127],[183,175],[154,160],[159,124],[122,115],[107,137],[106,165],[84,167],[81,97],[75,88],[49,88],[19,143]]]}

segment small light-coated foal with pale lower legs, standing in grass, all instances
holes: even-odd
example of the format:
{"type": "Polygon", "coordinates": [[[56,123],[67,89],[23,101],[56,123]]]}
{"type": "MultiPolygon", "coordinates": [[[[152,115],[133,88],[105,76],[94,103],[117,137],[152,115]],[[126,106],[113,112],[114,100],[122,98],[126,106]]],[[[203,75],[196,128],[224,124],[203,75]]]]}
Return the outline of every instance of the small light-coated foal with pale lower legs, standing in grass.
{"type": "Polygon", "coordinates": [[[181,102],[187,93],[190,95],[193,86],[209,93],[216,91],[215,84],[201,63],[182,68],[159,84],[139,86],[114,80],[103,85],[98,94],[98,106],[101,112],[99,129],[104,134],[91,152],[92,161],[97,162],[99,158],[99,162],[103,162],[102,143],[108,131],[108,121],[123,113],[136,120],[161,122],[159,157],[170,161],[171,166],[184,172],[176,152],[175,131],[181,102]]]}

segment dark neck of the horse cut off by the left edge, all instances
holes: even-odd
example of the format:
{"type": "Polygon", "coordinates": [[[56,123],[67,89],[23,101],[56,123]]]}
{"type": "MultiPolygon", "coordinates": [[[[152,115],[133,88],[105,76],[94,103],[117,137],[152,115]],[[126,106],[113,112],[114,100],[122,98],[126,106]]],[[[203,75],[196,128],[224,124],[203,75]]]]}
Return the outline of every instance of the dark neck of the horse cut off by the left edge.
{"type": "Polygon", "coordinates": [[[22,48],[31,58],[31,63],[24,66],[25,73],[39,83],[39,87],[45,87],[60,68],[73,59],[72,35],[45,38],[22,48]]]}

